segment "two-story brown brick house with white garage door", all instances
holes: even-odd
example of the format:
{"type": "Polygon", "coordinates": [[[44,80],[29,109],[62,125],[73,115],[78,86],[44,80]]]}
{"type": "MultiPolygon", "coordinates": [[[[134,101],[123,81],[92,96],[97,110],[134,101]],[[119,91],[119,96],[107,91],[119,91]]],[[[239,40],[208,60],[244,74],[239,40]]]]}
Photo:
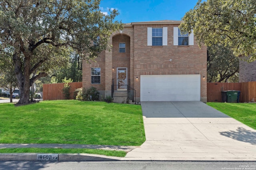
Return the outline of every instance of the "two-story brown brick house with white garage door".
{"type": "Polygon", "coordinates": [[[193,33],[180,35],[181,22],[135,22],[113,32],[112,50],[83,62],[83,88],[114,100],[206,102],[207,50],[193,33]]]}

